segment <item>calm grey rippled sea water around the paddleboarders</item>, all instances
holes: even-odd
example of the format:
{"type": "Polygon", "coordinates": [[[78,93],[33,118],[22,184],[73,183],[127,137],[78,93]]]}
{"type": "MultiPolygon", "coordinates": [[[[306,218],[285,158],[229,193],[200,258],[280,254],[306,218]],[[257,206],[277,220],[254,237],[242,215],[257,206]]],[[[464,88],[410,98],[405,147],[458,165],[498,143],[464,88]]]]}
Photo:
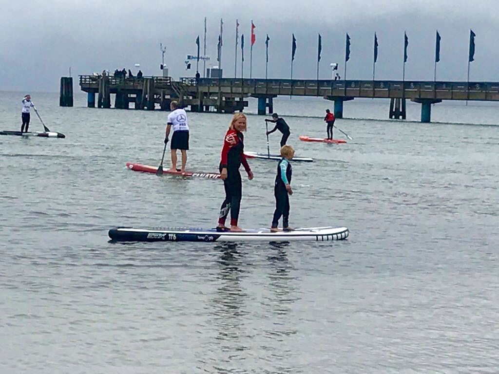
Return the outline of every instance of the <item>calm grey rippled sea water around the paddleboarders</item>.
{"type": "MultiPolygon", "coordinates": [[[[20,127],[23,94],[0,93],[0,129],[20,127]]],[[[419,105],[390,121],[388,101],[355,100],[338,146],[298,140],[325,136],[332,103],[276,100],[315,160],[293,165],[290,224],[348,240],[116,244],[115,225],[214,226],[222,183],[125,169],[159,164],[164,112],[32,98],[67,138],[0,137],[1,373],[497,373],[497,105],[421,124],[419,105]]],[[[189,170],[217,169],[230,119],[189,114],[189,170]]],[[[264,128],[249,116],[247,150],[266,151],[264,128]]],[[[266,227],[276,163],[250,165],[240,223],[266,227]]]]}

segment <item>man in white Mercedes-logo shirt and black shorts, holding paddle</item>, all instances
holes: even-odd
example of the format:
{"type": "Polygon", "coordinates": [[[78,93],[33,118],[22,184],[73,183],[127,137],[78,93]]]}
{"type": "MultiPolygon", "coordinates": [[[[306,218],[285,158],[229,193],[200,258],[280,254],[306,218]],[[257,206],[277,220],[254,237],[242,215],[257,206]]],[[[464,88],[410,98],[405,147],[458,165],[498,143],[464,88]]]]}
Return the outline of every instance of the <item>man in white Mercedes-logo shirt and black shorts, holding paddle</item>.
{"type": "Polygon", "coordinates": [[[172,167],[170,172],[178,172],[177,170],[177,150],[182,153],[182,168],[180,172],[185,173],[187,164],[187,150],[189,149],[189,125],[187,123],[187,113],[184,109],[179,108],[177,101],[170,103],[172,112],[168,115],[166,126],[165,144],[168,143],[168,136],[173,126],[172,142],[170,148],[172,150],[172,167]]]}

